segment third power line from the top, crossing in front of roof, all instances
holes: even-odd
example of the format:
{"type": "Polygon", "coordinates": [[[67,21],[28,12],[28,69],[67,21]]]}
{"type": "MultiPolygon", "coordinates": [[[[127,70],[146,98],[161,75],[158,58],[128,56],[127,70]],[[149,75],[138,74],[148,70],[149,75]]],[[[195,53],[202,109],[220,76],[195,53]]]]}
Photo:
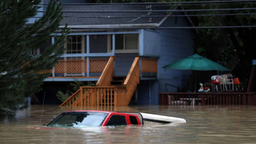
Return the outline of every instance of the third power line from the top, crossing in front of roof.
{"type": "MultiPolygon", "coordinates": [[[[256,13],[248,14],[189,14],[189,15],[170,15],[170,16],[63,16],[64,18],[150,18],[150,17],[183,17],[183,16],[236,16],[236,15],[251,15],[256,13]]],[[[32,17],[41,18],[41,17],[32,17]]]]}

